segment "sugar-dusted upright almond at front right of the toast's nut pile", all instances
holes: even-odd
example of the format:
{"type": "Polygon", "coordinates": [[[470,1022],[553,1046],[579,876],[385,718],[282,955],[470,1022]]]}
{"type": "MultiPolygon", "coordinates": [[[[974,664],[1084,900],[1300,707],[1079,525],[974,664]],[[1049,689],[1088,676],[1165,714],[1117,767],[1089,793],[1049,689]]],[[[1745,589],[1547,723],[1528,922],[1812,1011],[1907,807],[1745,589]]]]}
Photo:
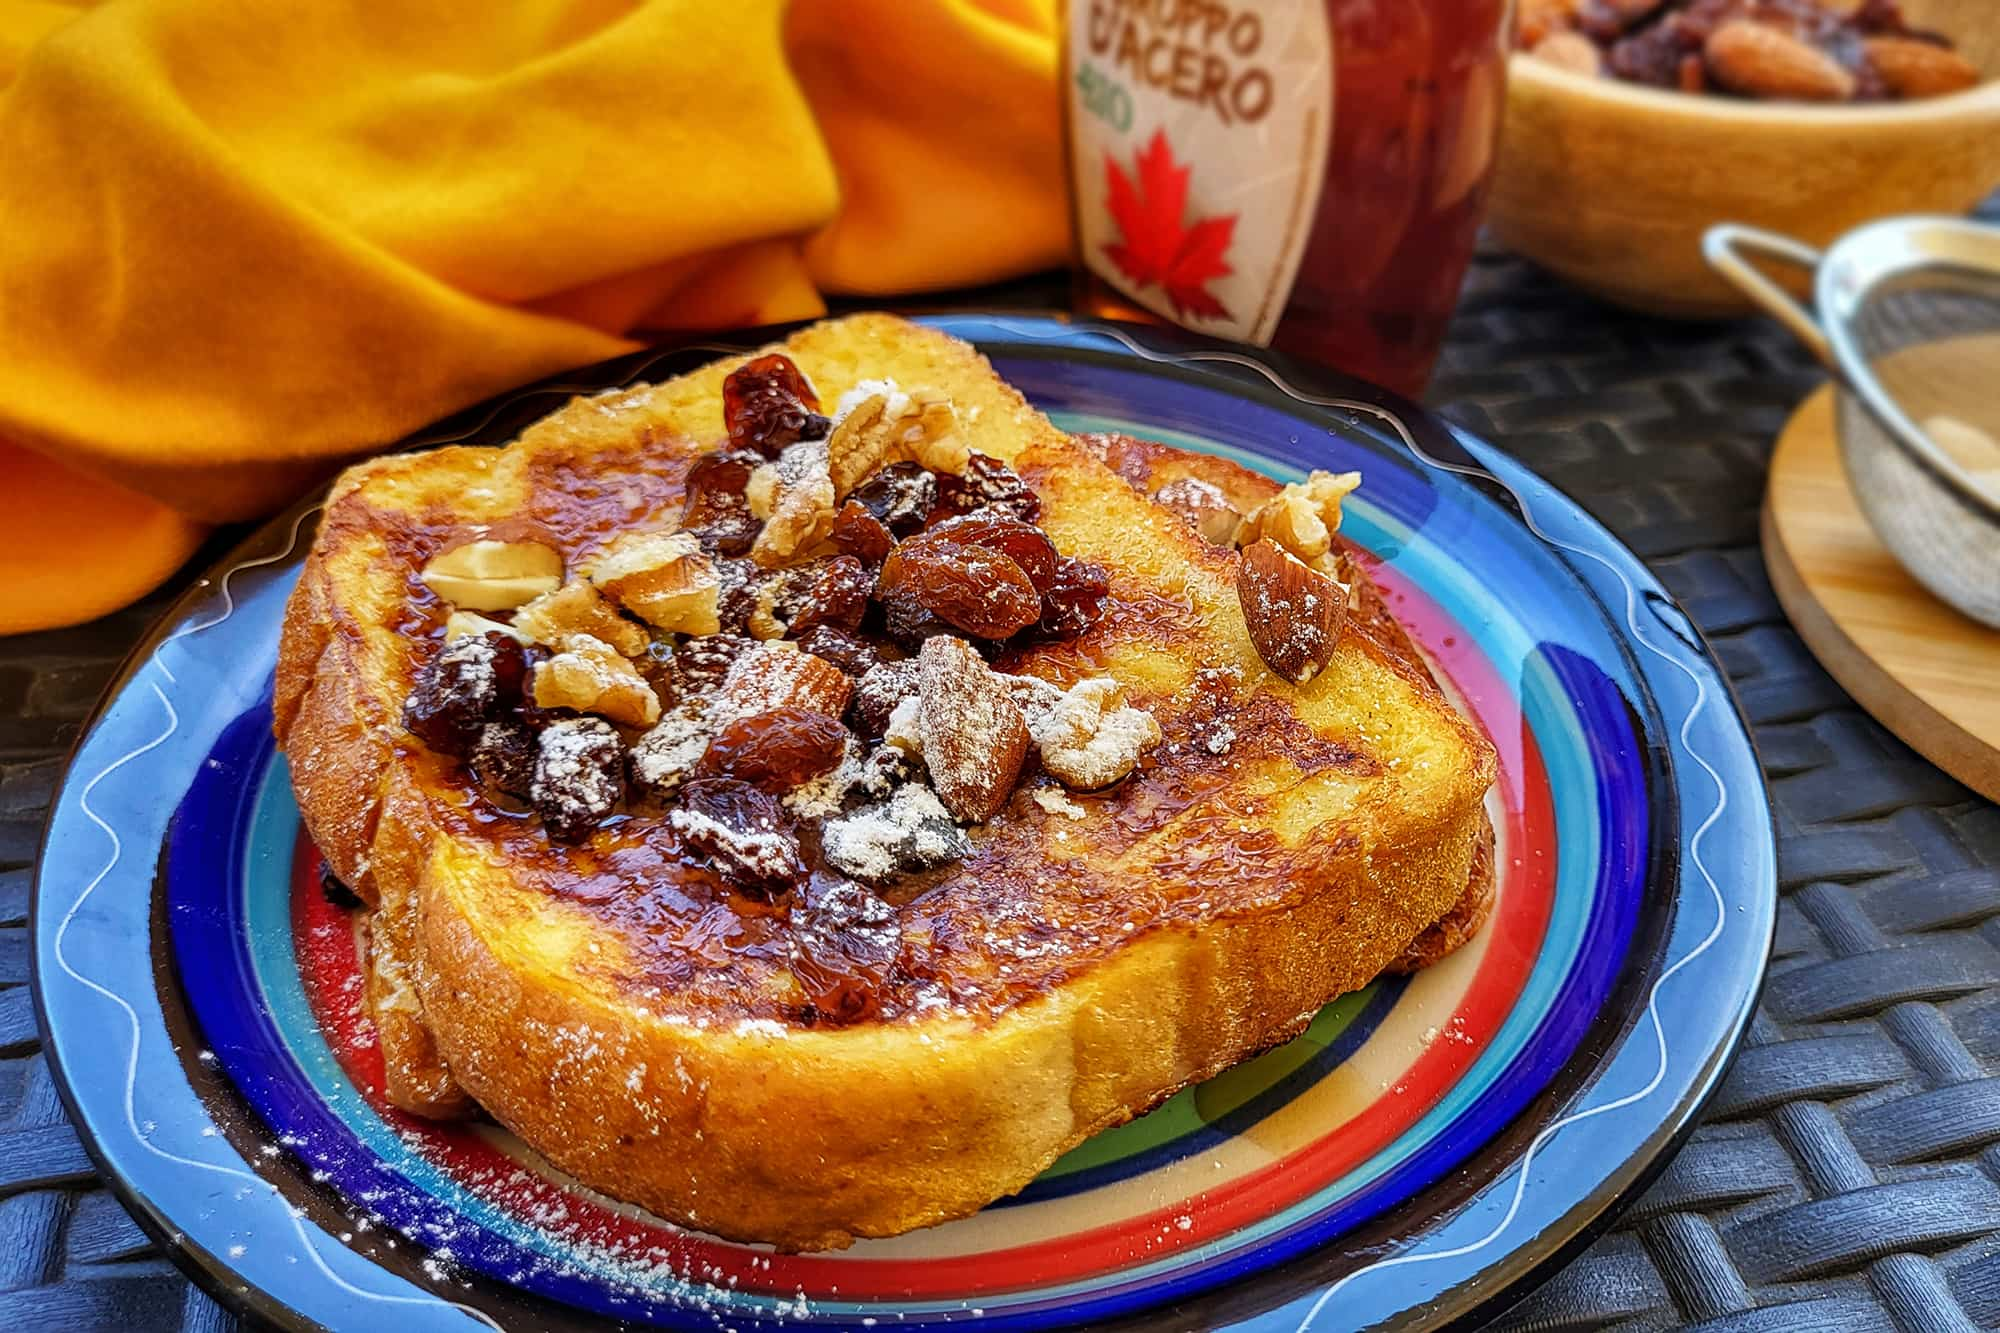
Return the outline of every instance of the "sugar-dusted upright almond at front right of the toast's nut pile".
{"type": "Polygon", "coordinates": [[[1006,679],[964,638],[936,634],[916,654],[916,727],[930,785],[952,819],[984,823],[1028,763],[1028,723],[1006,679]]]}

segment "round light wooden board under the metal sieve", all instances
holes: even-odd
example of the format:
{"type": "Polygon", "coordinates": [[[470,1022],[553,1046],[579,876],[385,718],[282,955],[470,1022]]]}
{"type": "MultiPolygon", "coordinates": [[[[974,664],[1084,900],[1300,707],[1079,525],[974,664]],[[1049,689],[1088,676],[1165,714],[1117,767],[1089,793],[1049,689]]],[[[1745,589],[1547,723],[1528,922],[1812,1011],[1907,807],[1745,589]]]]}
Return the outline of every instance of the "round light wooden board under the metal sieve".
{"type": "Polygon", "coordinates": [[[1926,592],[1876,538],[1840,466],[1832,386],[1778,436],[1764,564],[1828,675],[1914,751],[2000,801],[2000,630],[1926,592]]]}

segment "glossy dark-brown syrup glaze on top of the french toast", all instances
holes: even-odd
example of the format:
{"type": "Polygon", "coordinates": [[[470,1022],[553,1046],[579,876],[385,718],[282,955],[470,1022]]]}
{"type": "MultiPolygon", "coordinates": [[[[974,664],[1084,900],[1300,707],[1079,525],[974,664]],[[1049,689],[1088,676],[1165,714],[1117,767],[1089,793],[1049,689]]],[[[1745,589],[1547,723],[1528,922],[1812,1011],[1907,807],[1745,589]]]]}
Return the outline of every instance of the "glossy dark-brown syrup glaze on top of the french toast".
{"type": "MultiPolygon", "coordinates": [[[[616,532],[678,516],[694,456],[686,444],[536,456],[526,508],[490,530],[538,534],[574,568],[616,532]]],[[[452,504],[456,496],[444,496],[406,512],[372,508],[350,492],[328,514],[332,528],[376,536],[406,572],[408,596],[394,624],[410,640],[442,638],[440,602],[418,570],[468,536],[452,504]]],[[[1068,685],[1104,675],[1122,644],[1192,656],[1200,636],[1186,600],[1114,572],[1094,628],[1010,648],[998,664],[1068,685]]],[[[400,669],[428,650],[404,654],[400,669]]],[[[1240,697],[1226,673],[1198,673],[1176,697],[1138,693],[1132,703],[1162,719],[1164,741],[1112,791],[1066,795],[1082,819],[1060,805],[1044,809],[1030,779],[970,831],[968,857],[880,891],[894,907],[900,949],[874,981],[870,1017],[950,1009],[990,1019],[1060,987],[1136,933],[1268,909],[1298,883],[1286,865],[1306,855],[1270,831],[1274,797],[1306,775],[1378,773],[1378,761],[1316,735],[1284,701],[1240,697]],[[1244,793],[1246,775],[1262,777],[1268,795],[1244,793]]],[[[794,965],[798,893],[760,901],[732,889],[646,803],[564,845],[488,793],[462,761],[414,743],[398,743],[396,759],[414,765],[440,835],[482,847],[514,885],[568,905],[592,933],[616,941],[576,963],[596,983],[656,1013],[700,1021],[816,1021],[794,965]]],[[[822,869],[814,821],[800,821],[800,847],[822,869]]]]}

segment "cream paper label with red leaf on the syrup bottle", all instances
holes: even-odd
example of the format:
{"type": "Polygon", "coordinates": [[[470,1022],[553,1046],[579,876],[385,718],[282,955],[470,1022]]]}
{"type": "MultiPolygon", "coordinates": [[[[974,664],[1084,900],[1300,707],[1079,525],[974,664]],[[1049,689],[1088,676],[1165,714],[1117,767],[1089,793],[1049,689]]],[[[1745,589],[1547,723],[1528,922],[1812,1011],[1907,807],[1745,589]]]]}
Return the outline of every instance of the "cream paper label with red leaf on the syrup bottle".
{"type": "Polygon", "coordinates": [[[1334,132],[1318,0],[1070,0],[1082,262],[1188,328],[1268,344],[1334,132]]]}

